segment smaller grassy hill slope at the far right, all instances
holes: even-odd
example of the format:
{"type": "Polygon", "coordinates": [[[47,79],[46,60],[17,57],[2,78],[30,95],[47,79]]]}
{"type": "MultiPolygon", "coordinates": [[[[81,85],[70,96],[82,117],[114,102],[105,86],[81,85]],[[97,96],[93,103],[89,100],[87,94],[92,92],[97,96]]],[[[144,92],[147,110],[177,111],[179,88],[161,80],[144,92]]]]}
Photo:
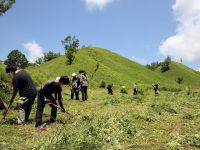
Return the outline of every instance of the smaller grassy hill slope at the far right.
{"type": "Polygon", "coordinates": [[[161,73],[160,68],[156,72],[172,81],[175,81],[178,77],[182,77],[183,84],[185,85],[200,85],[200,74],[178,62],[172,62],[170,64],[170,70],[167,72],[161,73]]]}

